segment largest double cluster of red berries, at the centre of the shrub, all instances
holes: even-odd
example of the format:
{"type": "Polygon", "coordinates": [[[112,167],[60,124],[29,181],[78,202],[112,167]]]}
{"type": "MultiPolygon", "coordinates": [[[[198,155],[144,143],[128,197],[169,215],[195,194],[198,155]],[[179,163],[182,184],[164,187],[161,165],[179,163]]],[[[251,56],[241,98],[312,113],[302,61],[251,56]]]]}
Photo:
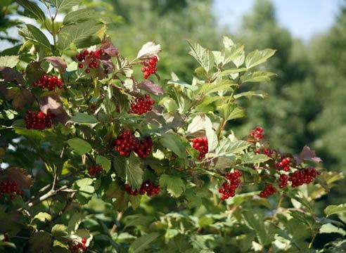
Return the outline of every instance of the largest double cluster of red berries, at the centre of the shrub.
{"type": "Polygon", "coordinates": [[[115,150],[119,152],[120,155],[129,156],[133,150],[139,157],[147,157],[150,155],[151,150],[153,150],[153,141],[150,137],[146,140],[139,141],[129,130],[124,130],[115,139],[115,150]]]}

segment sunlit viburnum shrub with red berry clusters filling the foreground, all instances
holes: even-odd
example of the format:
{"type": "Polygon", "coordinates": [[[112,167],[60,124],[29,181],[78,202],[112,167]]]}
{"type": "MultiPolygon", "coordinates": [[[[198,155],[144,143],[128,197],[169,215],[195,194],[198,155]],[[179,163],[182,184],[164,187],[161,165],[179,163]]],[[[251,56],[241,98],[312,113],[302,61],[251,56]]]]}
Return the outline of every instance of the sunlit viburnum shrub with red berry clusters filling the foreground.
{"type": "Polygon", "coordinates": [[[274,50],[245,53],[229,37],[220,51],[188,41],[198,64],[192,81],[174,72],[160,81],[160,44],[129,59],[106,34],[105,17],[63,14],[79,1],[17,3],[53,39],[23,25],[20,51],[0,58],[1,250],[343,247],[345,205],[314,209],[342,175],[307,146],[299,155],[272,147],[256,122],[246,136],[232,131],[245,117],[242,100],[264,97],[254,83],[275,76],[262,65],[274,50]],[[319,240],[325,233],[336,235],[319,240]]]}

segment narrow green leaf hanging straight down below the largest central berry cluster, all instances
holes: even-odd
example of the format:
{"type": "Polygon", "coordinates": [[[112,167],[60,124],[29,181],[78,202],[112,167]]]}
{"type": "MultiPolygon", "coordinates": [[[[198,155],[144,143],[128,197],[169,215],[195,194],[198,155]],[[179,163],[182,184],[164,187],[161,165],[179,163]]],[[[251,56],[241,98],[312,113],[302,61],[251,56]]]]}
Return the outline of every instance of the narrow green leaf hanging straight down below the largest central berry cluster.
{"type": "Polygon", "coordinates": [[[139,157],[131,153],[125,164],[126,182],[132,189],[139,189],[143,182],[142,162],[139,157]]]}

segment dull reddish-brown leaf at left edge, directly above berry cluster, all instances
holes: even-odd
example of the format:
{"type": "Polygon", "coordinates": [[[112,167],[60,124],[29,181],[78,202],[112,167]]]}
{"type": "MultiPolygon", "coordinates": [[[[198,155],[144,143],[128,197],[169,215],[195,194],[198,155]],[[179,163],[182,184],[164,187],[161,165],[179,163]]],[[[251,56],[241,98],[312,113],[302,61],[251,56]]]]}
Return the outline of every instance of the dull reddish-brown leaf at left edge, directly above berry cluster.
{"type": "Polygon", "coordinates": [[[0,170],[0,181],[12,180],[18,182],[20,189],[29,189],[32,186],[32,178],[25,169],[11,167],[0,170]]]}

